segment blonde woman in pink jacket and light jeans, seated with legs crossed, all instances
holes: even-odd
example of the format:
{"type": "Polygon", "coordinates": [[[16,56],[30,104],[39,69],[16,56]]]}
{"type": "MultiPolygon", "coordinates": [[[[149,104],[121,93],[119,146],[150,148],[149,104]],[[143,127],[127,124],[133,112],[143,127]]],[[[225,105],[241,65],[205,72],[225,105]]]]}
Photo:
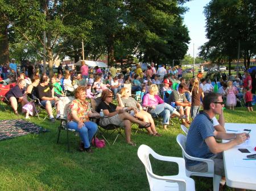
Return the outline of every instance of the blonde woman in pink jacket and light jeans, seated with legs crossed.
{"type": "Polygon", "coordinates": [[[150,108],[150,114],[163,117],[164,130],[167,130],[171,114],[175,114],[182,119],[186,118],[186,115],[181,116],[174,107],[164,103],[163,99],[158,96],[158,86],[155,84],[150,85],[149,93],[143,97],[143,106],[150,108]]]}

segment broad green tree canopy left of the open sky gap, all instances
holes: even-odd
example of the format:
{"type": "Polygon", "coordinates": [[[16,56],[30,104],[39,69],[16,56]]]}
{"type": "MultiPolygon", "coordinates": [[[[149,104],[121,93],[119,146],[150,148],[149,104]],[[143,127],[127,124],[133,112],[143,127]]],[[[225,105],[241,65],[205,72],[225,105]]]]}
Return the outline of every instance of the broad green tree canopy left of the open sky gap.
{"type": "MultiPolygon", "coordinates": [[[[0,42],[8,46],[13,35],[16,40],[11,45],[12,52],[22,45],[37,50],[40,56],[46,56],[50,69],[57,57],[79,60],[82,40],[85,57],[92,60],[108,55],[112,65],[114,60],[131,60],[135,55],[141,61],[168,64],[172,59],[183,59],[188,49],[184,2],[0,0],[0,24],[4,26],[0,42]],[[7,40],[1,39],[7,34],[7,40]]],[[[9,47],[2,45],[0,49],[2,56],[2,50],[9,47]]]]}

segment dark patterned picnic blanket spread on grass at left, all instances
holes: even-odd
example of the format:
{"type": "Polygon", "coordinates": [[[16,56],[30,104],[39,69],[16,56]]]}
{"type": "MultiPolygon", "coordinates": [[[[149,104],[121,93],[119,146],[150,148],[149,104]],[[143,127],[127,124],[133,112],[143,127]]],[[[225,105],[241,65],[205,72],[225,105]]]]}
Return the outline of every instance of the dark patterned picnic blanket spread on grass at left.
{"type": "Polygon", "coordinates": [[[24,121],[23,119],[0,120],[0,140],[48,131],[49,130],[46,128],[39,127],[36,124],[24,121]]]}

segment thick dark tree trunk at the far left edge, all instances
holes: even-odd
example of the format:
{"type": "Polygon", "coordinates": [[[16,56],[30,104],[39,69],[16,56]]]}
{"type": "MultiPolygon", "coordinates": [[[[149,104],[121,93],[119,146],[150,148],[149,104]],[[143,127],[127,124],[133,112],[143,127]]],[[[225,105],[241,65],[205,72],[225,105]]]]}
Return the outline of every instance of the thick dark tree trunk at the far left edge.
{"type": "Polygon", "coordinates": [[[0,14],[0,20],[0,64],[9,64],[8,23],[2,14],[0,14]]]}

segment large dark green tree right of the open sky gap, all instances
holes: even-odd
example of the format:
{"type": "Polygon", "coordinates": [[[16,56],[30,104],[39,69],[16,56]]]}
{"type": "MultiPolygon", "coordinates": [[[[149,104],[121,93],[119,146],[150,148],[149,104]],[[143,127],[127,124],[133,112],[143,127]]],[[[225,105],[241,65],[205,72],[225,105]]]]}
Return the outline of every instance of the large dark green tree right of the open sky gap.
{"type": "Polygon", "coordinates": [[[209,41],[200,47],[200,56],[217,63],[228,61],[230,69],[240,42],[240,54],[248,68],[256,45],[255,6],[253,0],[210,1],[204,10],[209,41]]]}

